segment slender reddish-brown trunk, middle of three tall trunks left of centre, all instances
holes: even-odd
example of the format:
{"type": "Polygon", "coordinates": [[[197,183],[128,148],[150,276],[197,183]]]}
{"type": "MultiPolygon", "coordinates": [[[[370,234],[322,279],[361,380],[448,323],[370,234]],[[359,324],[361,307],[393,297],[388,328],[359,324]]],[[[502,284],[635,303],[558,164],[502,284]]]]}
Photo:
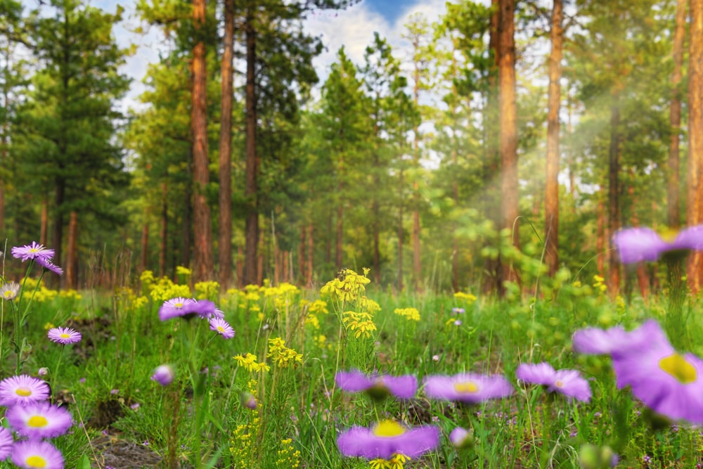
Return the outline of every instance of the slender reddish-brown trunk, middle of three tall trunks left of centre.
{"type": "Polygon", "coordinates": [[[226,291],[232,282],[232,58],[234,56],[234,0],[224,0],[222,101],[219,141],[219,283],[226,291]]]}

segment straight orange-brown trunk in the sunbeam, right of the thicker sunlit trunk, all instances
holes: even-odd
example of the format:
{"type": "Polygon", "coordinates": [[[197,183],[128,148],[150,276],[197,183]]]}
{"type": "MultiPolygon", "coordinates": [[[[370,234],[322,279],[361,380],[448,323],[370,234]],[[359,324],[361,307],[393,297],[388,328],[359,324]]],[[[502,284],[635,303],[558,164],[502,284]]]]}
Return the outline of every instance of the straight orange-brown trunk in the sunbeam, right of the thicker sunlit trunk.
{"type": "Polygon", "coordinates": [[[547,115],[547,179],[544,194],[545,256],[548,274],[554,276],[559,269],[559,110],[561,108],[562,77],[562,0],[554,0],[552,9],[552,51],[549,55],[549,97],[547,115]]]}

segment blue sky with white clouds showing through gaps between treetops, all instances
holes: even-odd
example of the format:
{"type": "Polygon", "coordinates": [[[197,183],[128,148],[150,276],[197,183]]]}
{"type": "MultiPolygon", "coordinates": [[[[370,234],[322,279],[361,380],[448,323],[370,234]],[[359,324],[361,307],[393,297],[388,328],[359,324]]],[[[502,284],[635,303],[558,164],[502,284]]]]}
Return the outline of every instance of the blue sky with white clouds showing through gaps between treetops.
{"type": "MultiPolygon", "coordinates": [[[[158,51],[165,50],[162,33],[157,28],[141,25],[134,5],[136,0],[88,0],[89,3],[105,11],[114,12],[117,3],[125,8],[124,21],[115,29],[118,44],[127,47],[138,46],[134,56],[127,59],[122,72],[133,78],[132,86],[120,104],[120,110],[143,108],[138,96],[146,90],[141,80],[146,75],[148,65],[157,63],[158,51]],[[146,34],[133,32],[136,27],[144,27],[146,34]]],[[[25,0],[27,8],[34,8],[37,0],[25,0]]],[[[413,13],[423,13],[430,23],[439,19],[446,11],[446,0],[361,0],[358,4],[342,11],[316,11],[304,22],[304,28],[311,35],[320,35],[325,51],[314,59],[314,66],[321,82],[327,77],[330,65],[337,51],[344,46],[349,58],[356,64],[363,62],[363,51],[373,41],[373,33],[378,31],[394,48],[396,57],[401,60],[409,55],[409,44],[402,39],[404,24],[413,13]]]]}

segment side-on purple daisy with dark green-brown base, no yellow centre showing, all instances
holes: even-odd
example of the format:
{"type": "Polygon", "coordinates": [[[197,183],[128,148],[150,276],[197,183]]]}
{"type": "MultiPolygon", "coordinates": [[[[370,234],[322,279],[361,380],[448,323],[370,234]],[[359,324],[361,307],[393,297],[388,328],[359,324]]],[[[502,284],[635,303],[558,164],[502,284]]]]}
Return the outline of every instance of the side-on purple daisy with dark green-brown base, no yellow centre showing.
{"type": "Polygon", "coordinates": [[[413,375],[388,376],[373,374],[367,376],[359,370],[339,371],[335,382],[341,390],[366,393],[374,399],[384,399],[393,394],[400,399],[412,399],[418,390],[418,378],[413,375]]]}

